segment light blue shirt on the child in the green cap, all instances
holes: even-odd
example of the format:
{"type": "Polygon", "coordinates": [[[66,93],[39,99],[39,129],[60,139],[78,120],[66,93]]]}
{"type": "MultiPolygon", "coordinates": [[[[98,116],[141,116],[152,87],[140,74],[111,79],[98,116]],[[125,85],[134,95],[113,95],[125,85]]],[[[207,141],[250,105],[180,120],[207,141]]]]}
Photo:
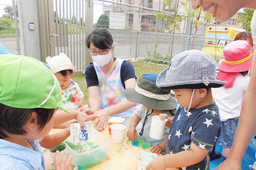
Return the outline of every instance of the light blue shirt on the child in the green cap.
{"type": "Polygon", "coordinates": [[[1,169],[45,169],[44,153],[38,140],[29,140],[32,149],[0,139],[1,169]]]}

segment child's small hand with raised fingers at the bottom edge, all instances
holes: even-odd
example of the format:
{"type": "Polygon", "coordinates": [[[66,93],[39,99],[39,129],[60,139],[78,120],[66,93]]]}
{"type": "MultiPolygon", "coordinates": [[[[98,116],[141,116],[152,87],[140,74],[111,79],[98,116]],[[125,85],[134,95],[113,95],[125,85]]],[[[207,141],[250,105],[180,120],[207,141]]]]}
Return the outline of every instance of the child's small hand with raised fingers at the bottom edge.
{"type": "MultiPolygon", "coordinates": [[[[61,161],[59,160],[59,150],[56,151],[54,156],[54,166],[56,170],[69,170],[70,169],[70,163],[73,158],[72,155],[68,156],[68,151],[64,153],[64,155],[61,158],[61,161]],[[68,158],[67,158],[68,156],[68,158]]],[[[75,167],[74,170],[77,170],[78,168],[75,167]]]]}

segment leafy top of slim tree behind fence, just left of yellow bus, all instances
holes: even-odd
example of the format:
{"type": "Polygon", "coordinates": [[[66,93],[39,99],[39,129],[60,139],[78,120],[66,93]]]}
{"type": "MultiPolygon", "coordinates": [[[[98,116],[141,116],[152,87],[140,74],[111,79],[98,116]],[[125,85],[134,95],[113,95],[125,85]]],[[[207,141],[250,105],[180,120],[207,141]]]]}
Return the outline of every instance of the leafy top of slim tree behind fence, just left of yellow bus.
{"type": "MultiPolygon", "coordinates": [[[[198,31],[198,27],[200,25],[205,25],[207,24],[209,21],[212,20],[212,13],[209,13],[209,12],[204,12],[202,7],[199,7],[195,10],[192,10],[188,4],[189,4],[190,0],[185,0],[184,2],[182,2],[182,6],[183,8],[185,9],[186,11],[186,17],[191,17],[192,20],[193,20],[193,23],[192,23],[192,26],[194,26],[196,28],[195,30],[195,35],[197,34],[197,31],[198,31]],[[204,17],[203,17],[203,20],[201,19],[201,15],[204,13],[204,17]]],[[[190,23],[191,24],[191,23],[190,23]]]]}

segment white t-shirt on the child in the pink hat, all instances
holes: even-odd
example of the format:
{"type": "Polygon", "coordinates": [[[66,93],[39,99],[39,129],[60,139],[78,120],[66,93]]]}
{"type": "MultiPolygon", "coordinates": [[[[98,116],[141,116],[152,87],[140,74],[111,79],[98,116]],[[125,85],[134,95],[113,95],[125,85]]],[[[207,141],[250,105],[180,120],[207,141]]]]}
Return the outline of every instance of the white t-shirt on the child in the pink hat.
{"type": "Polygon", "coordinates": [[[249,76],[243,76],[238,73],[232,87],[224,88],[222,86],[216,88],[216,93],[213,96],[213,99],[219,107],[221,121],[239,117],[243,95],[248,87],[249,80],[249,76]]]}

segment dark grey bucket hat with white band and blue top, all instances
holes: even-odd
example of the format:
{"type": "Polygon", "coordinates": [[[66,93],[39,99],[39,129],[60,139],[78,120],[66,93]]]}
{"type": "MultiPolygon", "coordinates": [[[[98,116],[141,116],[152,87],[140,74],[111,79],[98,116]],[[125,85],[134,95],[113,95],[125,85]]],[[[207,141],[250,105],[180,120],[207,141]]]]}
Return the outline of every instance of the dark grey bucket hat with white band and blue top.
{"type": "Polygon", "coordinates": [[[145,73],[138,80],[135,88],[127,88],[127,100],[139,102],[155,110],[172,110],[177,106],[171,96],[170,89],[162,89],[156,85],[158,74],[145,73]]]}

